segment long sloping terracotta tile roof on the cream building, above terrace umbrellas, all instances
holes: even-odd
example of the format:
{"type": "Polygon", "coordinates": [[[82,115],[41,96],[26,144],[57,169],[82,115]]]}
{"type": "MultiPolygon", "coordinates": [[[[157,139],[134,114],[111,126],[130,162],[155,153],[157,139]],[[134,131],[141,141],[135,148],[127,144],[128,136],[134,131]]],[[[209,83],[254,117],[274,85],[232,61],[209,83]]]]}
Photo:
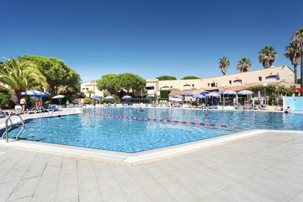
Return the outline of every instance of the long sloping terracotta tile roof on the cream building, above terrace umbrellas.
{"type": "MultiPolygon", "coordinates": [[[[266,82],[268,86],[272,86],[272,85],[276,85],[278,83],[281,83],[282,81],[285,81],[286,79],[284,80],[280,80],[280,81],[268,81],[266,82]]],[[[251,83],[246,83],[246,84],[240,84],[240,85],[226,85],[225,88],[224,88],[224,91],[241,91],[245,88],[251,88],[251,87],[260,87],[262,86],[264,83],[264,81],[259,81],[259,82],[251,82],[251,83]]],[[[218,86],[218,87],[203,87],[203,88],[200,88],[199,90],[197,91],[193,91],[193,93],[201,93],[201,92],[204,92],[204,91],[220,91],[222,92],[223,91],[223,88],[221,86],[218,86]]]]}

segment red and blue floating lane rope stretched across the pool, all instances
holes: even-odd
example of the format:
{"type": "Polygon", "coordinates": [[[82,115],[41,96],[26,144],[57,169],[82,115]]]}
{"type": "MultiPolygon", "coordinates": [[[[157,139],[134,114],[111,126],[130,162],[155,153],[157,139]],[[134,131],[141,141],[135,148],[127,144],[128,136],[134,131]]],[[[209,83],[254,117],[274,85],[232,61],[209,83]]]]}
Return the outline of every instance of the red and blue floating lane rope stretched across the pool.
{"type": "Polygon", "coordinates": [[[234,128],[233,126],[227,126],[227,125],[221,125],[221,124],[209,124],[209,123],[191,122],[191,121],[175,121],[175,120],[168,120],[168,119],[141,118],[141,117],[131,117],[131,116],[122,116],[122,115],[113,115],[113,114],[100,114],[100,113],[87,113],[87,114],[95,115],[95,116],[103,116],[103,117],[133,119],[133,120],[139,120],[139,121],[154,121],[154,122],[171,123],[171,124],[187,124],[187,125],[196,125],[196,126],[215,126],[215,127],[234,128]]]}

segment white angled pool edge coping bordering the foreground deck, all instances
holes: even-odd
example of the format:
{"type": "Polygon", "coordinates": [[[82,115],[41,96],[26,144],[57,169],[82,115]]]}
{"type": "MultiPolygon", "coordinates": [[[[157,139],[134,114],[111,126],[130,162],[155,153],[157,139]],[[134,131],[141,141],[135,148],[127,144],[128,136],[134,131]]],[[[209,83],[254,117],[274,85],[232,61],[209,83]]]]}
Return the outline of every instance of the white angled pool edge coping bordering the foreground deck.
{"type": "Polygon", "coordinates": [[[111,164],[120,164],[126,166],[135,166],[145,164],[153,161],[163,160],[170,157],[180,156],[191,152],[204,150],[210,147],[215,147],[222,144],[246,139],[249,137],[258,136],[269,132],[283,132],[283,133],[300,133],[303,131],[291,130],[269,130],[269,129],[253,129],[241,131],[232,134],[212,137],[204,140],[198,140],[168,147],[161,147],[147,151],[140,151],[135,153],[126,153],[118,151],[108,151],[101,149],[92,149],[85,147],[35,142],[9,139],[8,143],[4,139],[0,140],[0,146],[21,149],[26,151],[34,151],[45,154],[53,154],[65,157],[80,158],[85,160],[99,161],[111,164]]]}

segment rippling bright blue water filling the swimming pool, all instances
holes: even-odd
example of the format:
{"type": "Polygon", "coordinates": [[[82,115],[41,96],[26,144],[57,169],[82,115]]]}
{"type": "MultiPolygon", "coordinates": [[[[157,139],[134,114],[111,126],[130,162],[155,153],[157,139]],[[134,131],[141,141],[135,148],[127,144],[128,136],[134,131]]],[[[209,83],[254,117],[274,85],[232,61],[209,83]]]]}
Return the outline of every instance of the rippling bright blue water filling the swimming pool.
{"type": "MultiPolygon", "coordinates": [[[[61,118],[26,120],[20,138],[55,144],[73,145],[122,152],[138,152],[245,131],[249,129],[303,130],[303,114],[285,114],[265,111],[205,111],[171,108],[91,108],[83,114],[64,115],[61,118]],[[158,123],[87,114],[159,118],[180,121],[223,124],[235,128],[158,123]]],[[[14,127],[9,137],[14,138],[20,127],[14,127]]],[[[1,134],[4,130],[0,131],[1,134]]]]}

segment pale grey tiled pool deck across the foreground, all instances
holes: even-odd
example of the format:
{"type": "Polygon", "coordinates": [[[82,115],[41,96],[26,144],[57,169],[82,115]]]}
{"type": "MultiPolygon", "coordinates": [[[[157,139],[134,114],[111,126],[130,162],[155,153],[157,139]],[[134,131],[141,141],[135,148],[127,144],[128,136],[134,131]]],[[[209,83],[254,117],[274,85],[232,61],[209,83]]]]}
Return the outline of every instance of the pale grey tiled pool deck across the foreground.
{"type": "Polygon", "coordinates": [[[0,145],[0,201],[303,201],[299,133],[269,132],[132,167],[8,147],[0,145]]]}

